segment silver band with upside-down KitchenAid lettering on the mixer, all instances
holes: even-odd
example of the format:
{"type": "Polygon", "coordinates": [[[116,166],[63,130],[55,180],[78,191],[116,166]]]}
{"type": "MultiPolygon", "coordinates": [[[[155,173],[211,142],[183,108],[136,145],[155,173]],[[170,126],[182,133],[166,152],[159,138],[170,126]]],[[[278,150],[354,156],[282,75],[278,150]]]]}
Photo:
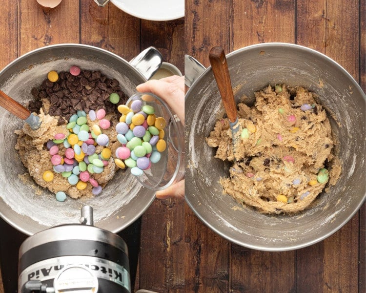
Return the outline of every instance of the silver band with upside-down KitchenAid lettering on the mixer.
{"type": "Polygon", "coordinates": [[[131,292],[130,275],[124,267],[102,258],[81,255],[55,257],[32,264],[20,273],[19,285],[30,280],[54,279],[63,268],[75,265],[85,266],[97,278],[115,282],[131,292]]]}

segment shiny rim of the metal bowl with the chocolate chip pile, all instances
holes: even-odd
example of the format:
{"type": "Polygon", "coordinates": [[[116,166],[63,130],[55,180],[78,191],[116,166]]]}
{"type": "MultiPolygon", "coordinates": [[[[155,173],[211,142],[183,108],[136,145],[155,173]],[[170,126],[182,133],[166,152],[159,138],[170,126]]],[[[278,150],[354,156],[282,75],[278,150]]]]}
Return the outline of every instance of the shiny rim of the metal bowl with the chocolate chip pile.
{"type": "MultiPolygon", "coordinates": [[[[22,55],[20,55],[19,57],[17,57],[15,60],[13,60],[12,62],[10,62],[9,64],[7,64],[4,68],[2,68],[0,70],[0,77],[6,73],[8,70],[12,70],[13,67],[17,67],[18,63],[22,62],[22,60],[31,57],[33,55],[37,55],[40,52],[43,51],[49,51],[49,50],[53,50],[53,49],[63,49],[63,48],[67,48],[67,49],[73,49],[75,48],[76,50],[82,50],[82,49],[88,49],[88,50],[92,50],[95,51],[97,53],[101,53],[104,55],[107,55],[113,59],[119,60],[122,63],[125,63],[128,67],[130,67],[131,70],[133,70],[135,72],[135,74],[141,78],[142,82],[146,82],[146,78],[143,76],[143,74],[137,69],[135,68],[133,65],[131,65],[128,61],[126,61],[125,59],[123,59],[121,56],[114,54],[108,50],[99,48],[99,47],[95,47],[92,45],[87,45],[87,44],[80,44],[80,43],[60,43],[60,44],[53,44],[53,45],[48,45],[48,46],[44,46],[44,47],[40,47],[37,49],[34,49],[32,51],[29,51],[27,53],[24,53],[22,55]]],[[[62,58],[56,58],[55,59],[62,59],[62,58]]],[[[41,61],[40,61],[41,63],[41,61]]],[[[19,70],[21,71],[20,68],[19,70]]],[[[121,231],[122,229],[128,227],[129,225],[131,225],[133,222],[135,222],[139,217],[142,216],[142,214],[150,207],[150,205],[153,203],[153,201],[155,200],[155,192],[151,193],[151,196],[148,198],[146,197],[144,200],[144,207],[143,209],[139,209],[138,211],[136,211],[136,213],[134,214],[133,217],[130,217],[126,220],[124,220],[120,225],[117,225],[115,228],[113,229],[108,229],[109,231],[111,231],[112,233],[117,233],[119,231],[121,231]]],[[[19,223],[17,224],[16,221],[12,220],[12,217],[9,217],[9,214],[7,213],[8,210],[11,210],[11,208],[5,203],[3,202],[1,196],[0,196],[0,202],[2,202],[2,208],[0,208],[0,217],[6,222],[8,223],[10,226],[14,227],[15,229],[19,230],[20,232],[26,234],[26,235],[34,235],[37,232],[40,232],[41,230],[37,230],[37,231],[32,231],[29,228],[24,228],[25,226],[21,226],[19,225],[19,223]]],[[[118,212],[118,210],[114,211],[114,212],[118,212]]],[[[28,215],[29,217],[31,217],[30,215],[28,215]]],[[[69,223],[63,223],[63,224],[69,224],[69,223]]],[[[99,226],[99,223],[96,222],[96,227],[99,226]]],[[[44,227],[43,230],[45,229],[49,229],[50,227],[44,227]]],[[[105,229],[105,228],[100,228],[100,229],[105,229]]]]}

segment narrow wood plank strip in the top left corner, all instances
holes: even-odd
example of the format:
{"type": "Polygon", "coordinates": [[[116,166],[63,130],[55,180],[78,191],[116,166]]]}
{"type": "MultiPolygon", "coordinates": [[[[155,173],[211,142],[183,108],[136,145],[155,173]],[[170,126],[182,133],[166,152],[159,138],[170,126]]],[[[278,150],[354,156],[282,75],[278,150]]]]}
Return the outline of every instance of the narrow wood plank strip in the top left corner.
{"type": "Polygon", "coordinates": [[[0,68],[18,57],[18,3],[5,0],[3,7],[7,13],[2,13],[2,29],[0,30],[0,68]]]}

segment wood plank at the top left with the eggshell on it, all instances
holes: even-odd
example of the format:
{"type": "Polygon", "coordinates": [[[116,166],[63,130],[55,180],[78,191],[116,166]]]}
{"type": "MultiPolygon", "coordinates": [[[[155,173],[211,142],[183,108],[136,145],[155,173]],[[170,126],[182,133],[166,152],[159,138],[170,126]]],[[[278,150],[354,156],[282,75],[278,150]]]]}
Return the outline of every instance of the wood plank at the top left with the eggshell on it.
{"type": "Polygon", "coordinates": [[[19,2],[20,55],[50,44],[79,42],[79,2],[63,0],[52,9],[33,0],[19,2]]]}

